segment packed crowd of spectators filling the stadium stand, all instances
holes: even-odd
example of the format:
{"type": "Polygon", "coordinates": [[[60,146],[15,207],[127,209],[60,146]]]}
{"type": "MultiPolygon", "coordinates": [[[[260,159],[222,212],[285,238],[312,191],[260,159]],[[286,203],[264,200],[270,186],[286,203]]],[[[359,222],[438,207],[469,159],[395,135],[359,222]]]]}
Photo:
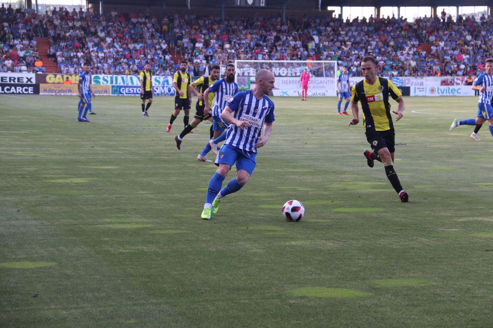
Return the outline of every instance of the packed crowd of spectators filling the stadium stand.
{"type": "Polygon", "coordinates": [[[459,16],[442,12],[413,22],[396,17],[359,17],[341,22],[329,17],[245,14],[167,15],[148,12],[104,15],[54,8],[37,17],[11,7],[0,8],[1,71],[42,71],[35,64],[37,28],[46,31],[48,58],[63,73],[78,73],[90,62],[98,74],[136,74],[149,62],[154,75],[173,75],[179,60],[189,61],[194,76],[206,67],[242,60],[337,60],[359,75],[359,63],[373,55],[382,76],[473,75],[493,54],[491,17],[459,16]],[[431,50],[421,46],[429,43],[431,50]],[[426,51],[428,50],[428,52],[426,51]]]}

